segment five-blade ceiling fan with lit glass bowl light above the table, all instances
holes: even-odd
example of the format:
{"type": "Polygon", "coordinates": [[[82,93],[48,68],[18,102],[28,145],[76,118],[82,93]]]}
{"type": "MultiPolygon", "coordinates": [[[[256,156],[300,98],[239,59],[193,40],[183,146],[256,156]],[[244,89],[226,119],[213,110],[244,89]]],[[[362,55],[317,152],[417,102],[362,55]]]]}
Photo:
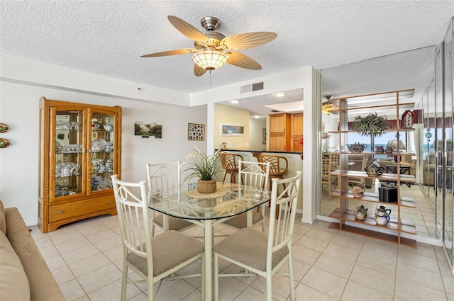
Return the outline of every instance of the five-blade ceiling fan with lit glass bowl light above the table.
{"type": "Polygon", "coordinates": [[[202,33],[191,24],[175,16],[168,16],[167,18],[180,33],[194,40],[195,48],[155,52],[140,57],[165,57],[167,55],[192,53],[194,74],[196,76],[201,76],[207,71],[211,72],[211,70],[218,69],[223,64],[226,64],[226,62],[245,69],[260,70],[262,66],[258,62],[255,62],[254,59],[233,50],[243,50],[260,46],[277,38],[276,33],[270,32],[240,33],[226,37],[222,33],[214,31],[221,25],[221,21],[215,17],[201,19],[200,23],[205,28],[206,33],[202,33]]]}

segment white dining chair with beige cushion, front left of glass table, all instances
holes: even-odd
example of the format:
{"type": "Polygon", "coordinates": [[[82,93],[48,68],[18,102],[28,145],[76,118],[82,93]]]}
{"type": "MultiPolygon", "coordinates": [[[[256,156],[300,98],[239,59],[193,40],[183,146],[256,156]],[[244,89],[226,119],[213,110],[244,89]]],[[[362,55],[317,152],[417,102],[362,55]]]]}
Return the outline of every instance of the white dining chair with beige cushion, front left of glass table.
{"type": "MultiPolygon", "coordinates": [[[[153,284],[157,281],[160,281],[160,284],[155,295],[159,292],[162,280],[203,276],[202,264],[201,273],[169,277],[199,259],[203,262],[204,244],[194,237],[172,230],[152,237],[148,203],[145,201],[146,181],[129,183],[118,180],[117,175],[111,178],[123,242],[121,300],[126,300],[126,285],[129,283],[147,283],[148,300],[153,301],[153,284]],[[140,193],[136,195],[136,191],[140,193]],[[142,279],[128,280],[128,268],[142,279]]],[[[202,292],[203,286],[204,281],[202,292]]]]}

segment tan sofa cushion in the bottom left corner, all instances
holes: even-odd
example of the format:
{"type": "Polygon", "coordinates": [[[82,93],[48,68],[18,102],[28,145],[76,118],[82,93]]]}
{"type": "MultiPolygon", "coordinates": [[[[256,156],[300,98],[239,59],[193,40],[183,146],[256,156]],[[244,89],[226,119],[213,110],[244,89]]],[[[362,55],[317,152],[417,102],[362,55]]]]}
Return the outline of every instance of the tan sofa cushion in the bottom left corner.
{"type": "Polygon", "coordinates": [[[0,232],[0,300],[30,300],[30,284],[21,260],[0,232]]]}

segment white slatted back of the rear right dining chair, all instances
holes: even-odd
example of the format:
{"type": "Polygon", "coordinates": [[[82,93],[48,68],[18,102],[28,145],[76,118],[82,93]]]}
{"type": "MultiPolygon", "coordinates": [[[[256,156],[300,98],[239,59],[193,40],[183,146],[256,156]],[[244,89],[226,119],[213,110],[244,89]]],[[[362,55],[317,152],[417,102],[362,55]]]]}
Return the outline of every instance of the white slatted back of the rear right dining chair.
{"type": "Polygon", "coordinates": [[[270,177],[270,163],[240,160],[238,164],[238,175],[238,181],[246,186],[265,188],[270,177]]]}

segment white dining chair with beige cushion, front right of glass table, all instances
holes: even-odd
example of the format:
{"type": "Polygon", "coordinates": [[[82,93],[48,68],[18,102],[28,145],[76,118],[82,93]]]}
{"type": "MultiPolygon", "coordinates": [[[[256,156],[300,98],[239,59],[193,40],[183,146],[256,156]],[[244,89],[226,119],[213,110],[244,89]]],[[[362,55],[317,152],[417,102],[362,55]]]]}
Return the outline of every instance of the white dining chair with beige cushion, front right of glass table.
{"type": "Polygon", "coordinates": [[[273,275],[289,276],[290,300],[295,300],[292,236],[301,174],[302,171],[297,171],[297,176],[292,178],[272,179],[270,227],[267,234],[251,228],[240,229],[214,246],[214,300],[219,299],[220,277],[257,276],[262,284],[266,300],[271,301],[273,275]],[[278,195],[277,186],[279,184],[285,184],[286,187],[278,195]],[[277,205],[280,205],[282,211],[276,219],[275,208],[277,205]],[[244,268],[245,273],[220,274],[219,259],[244,268]],[[288,273],[277,273],[285,262],[288,264],[288,273]],[[261,282],[260,276],[266,278],[266,288],[261,282]]]}

